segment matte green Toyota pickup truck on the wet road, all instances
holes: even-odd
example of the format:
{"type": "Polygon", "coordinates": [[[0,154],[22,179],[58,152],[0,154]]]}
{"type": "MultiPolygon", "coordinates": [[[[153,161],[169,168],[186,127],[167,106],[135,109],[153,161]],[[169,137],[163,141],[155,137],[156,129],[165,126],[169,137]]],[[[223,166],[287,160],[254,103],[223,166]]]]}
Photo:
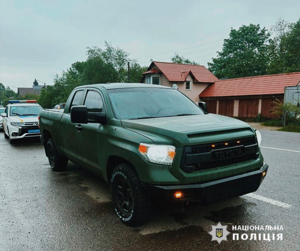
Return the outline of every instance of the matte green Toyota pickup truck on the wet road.
{"type": "Polygon", "coordinates": [[[259,131],[199,105],[160,85],[79,86],[63,112],[41,111],[41,141],[53,171],[70,160],[103,178],[117,216],[133,226],[149,219],[153,199],[207,205],[265,178],[259,131]]]}

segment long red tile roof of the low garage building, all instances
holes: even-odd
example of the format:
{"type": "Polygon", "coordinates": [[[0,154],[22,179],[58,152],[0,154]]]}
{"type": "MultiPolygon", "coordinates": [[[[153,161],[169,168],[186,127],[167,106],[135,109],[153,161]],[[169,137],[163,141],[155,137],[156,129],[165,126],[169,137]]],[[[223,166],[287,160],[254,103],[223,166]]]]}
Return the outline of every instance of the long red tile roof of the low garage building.
{"type": "Polygon", "coordinates": [[[209,85],[199,97],[283,94],[286,86],[295,86],[299,82],[300,72],[223,79],[209,85]]]}

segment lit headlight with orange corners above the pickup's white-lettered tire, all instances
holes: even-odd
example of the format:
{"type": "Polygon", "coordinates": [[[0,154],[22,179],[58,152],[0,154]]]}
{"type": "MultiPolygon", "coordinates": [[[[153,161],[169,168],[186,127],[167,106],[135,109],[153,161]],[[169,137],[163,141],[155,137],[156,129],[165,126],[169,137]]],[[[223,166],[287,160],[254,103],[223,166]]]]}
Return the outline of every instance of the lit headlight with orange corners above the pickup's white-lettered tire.
{"type": "Polygon", "coordinates": [[[150,162],[172,165],[175,156],[175,146],[140,143],[139,152],[150,162]]]}

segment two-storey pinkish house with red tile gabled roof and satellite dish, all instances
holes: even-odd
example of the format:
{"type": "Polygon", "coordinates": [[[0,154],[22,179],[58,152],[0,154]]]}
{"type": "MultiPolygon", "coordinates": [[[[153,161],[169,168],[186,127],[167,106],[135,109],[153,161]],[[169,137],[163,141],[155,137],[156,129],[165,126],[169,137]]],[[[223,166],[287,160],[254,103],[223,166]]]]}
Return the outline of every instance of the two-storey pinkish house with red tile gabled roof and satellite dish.
{"type": "Polygon", "coordinates": [[[153,61],[147,71],[142,73],[141,83],[152,85],[178,86],[192,100],[200,101],[201,93],[218,78],[203,65],[176,64],[153,61]]]}

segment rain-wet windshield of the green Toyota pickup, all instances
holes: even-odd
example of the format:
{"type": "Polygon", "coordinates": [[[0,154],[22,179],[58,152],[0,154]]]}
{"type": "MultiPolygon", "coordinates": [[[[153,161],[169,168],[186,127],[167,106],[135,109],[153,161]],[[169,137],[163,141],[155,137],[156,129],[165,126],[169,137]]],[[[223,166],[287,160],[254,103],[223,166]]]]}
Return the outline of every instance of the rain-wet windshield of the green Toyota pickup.
{"type": "Polygon", "coordinates": [[[168,88],[107,90],[117,119],[160,118],[204,114],[180,91],[168,88]]]}

